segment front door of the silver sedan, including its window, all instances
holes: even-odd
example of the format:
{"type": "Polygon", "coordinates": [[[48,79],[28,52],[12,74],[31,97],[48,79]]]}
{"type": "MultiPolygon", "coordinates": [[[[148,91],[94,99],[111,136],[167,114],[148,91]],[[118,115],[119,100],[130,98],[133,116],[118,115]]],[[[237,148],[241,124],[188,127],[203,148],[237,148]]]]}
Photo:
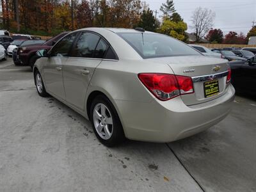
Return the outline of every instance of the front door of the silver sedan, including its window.
{"type": "Polygon", "coordinates": [[[52,47],[47,65],[44,67],[44,83],[47,92],[65,99],[63,86],[63,65],[67,61],[77,33],[65,36],[58,44],[52,47]]]}

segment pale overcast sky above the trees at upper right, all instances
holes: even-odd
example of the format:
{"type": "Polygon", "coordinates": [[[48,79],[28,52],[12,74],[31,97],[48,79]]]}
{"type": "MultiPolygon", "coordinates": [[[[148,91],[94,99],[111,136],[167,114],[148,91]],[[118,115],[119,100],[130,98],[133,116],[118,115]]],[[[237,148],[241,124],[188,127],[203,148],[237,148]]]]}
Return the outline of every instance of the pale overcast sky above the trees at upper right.
{"type": "MultiPolygon", "coordinates": [[[[163,15],[159,8],[166,0],[145,0],[151,10],[157,10],[157,17],[163,15]]],[[[188,24],[188,32],[191,29],[191,16],[193,11],[201,6],[215,12],[213,28],[220,28],[224,34],[228,31],[243,32],[244,35],[252,28],[255,20],[256,26],[256,0],[173,0],[175,10],[188,24]]],[[[155,14],[155,13],[154,13],[155,14]]]]}

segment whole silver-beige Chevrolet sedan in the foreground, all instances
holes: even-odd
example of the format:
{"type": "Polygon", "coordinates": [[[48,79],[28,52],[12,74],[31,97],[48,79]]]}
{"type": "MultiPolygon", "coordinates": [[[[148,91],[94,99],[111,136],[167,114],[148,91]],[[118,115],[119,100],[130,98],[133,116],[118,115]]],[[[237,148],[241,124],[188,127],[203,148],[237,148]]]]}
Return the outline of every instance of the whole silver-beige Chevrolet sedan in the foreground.
{"type": "Polygon", "coordinates": [[[37,54],[38,94],[91,120],[107,146],[191,136],[223,120],[234,100],[227,60],[143,29],[79,29],[37,54]]]}

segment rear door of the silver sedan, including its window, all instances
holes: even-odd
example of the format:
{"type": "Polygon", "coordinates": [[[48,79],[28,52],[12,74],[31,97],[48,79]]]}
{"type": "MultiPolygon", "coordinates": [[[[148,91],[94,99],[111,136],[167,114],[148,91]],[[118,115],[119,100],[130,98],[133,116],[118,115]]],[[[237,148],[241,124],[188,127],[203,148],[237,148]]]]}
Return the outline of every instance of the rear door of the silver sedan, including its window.
{"type": "Polygon", "coordinates": [[[72,48],[72,54],[63,65],[66,100],[84,110],[84,99],[95,68],[109,45],[99,35],[81,32],[72,48]]]}

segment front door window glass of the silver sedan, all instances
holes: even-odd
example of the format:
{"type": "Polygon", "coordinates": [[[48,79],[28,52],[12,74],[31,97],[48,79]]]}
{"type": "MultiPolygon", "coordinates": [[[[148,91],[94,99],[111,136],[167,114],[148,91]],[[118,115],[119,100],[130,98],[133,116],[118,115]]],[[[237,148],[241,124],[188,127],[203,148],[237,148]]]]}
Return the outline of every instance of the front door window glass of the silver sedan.
{"type": "Polygon", "coordinates": [[[72,43],[76,38],[77,33],[65,36],[58,44],[56,44],[51,51],[51,56],[68,56],[68,52],[72,43]]]}

